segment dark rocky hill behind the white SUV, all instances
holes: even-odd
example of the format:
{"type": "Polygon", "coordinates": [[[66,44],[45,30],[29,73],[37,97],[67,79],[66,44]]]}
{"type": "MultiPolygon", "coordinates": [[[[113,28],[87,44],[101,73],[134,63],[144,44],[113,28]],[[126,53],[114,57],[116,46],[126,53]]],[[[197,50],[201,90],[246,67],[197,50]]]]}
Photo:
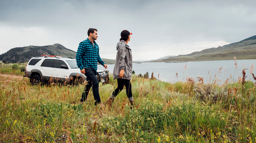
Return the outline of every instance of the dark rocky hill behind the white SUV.
{"type": "MultiPolygon", "coordinates": [[[[24,63],[30,58],[41,55],[55,55],[75,58],[76,52],[65,48],[61,44],[53,44],[48,46],[27,46],[12,48],[8,52],[0,55],[0,60],[8,63],[24,63]]],[[[104,59],[106,64],[114,64],[115,60],[104,59]]]]}

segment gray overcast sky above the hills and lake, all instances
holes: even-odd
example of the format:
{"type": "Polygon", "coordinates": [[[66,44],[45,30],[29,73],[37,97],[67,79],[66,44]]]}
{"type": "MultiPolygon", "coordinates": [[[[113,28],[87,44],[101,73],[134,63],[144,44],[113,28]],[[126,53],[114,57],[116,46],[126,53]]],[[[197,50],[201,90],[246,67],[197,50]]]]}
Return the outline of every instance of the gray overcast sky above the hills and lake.
{"type": "Polygon", "coordinates": [[[0,0],[0,54],[59,43],[77,51],[96,28],[101,58],[132,32],[133,60],[185,55],[256,35],[255,0],[0,0]]]}

